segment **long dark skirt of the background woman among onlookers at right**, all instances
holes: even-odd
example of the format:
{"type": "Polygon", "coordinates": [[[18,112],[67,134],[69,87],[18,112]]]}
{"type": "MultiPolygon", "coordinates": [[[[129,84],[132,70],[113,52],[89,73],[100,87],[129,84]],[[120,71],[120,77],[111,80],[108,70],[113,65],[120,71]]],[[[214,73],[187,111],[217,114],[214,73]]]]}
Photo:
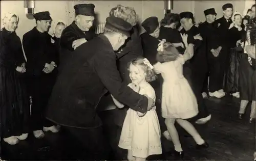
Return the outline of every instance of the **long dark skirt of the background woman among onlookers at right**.
{"type": "Polygon", "coordinates": [[[223,87],[227,93],[236,93],[239,91],[239,64],[242,56],[242,50],[236,48],[230,49],[229,66],[224,74],[223,87]]]}

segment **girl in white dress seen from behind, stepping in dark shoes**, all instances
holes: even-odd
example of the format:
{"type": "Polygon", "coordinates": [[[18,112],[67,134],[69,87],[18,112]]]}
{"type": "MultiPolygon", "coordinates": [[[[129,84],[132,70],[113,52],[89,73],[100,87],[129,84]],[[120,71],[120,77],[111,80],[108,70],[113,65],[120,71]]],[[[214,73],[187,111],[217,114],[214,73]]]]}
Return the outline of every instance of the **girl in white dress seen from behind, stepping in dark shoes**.
{"type": "Polygon", "coordinates": [[[196,141],[197,148],[207,148],[208,144],[201,138],[195,127],[186,119],[198,114],[195,94],[183,76],[183,64],[191,56],[188,52],[181,55],[171,43],[162,41],[158,47],[157,61],[154,65],[156,73],[163,77],[161,109],[162,117],[175,147],[175,155],[183,157],[175,122],[180,124],[196,141]]]}

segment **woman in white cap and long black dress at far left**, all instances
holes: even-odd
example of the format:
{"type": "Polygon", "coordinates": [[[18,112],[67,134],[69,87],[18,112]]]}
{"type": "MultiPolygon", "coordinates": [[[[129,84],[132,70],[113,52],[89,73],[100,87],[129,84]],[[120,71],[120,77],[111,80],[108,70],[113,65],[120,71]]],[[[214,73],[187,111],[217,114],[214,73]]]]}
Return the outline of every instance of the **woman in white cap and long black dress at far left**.
{"type": "Polygon", "coordinates": [[[22,43],[15,33],[18,16],[8,13],[3,22],[0,51],[1,137],[14,145],[28,137],[29,97],[23,83],[26,61],[22,43]]]}

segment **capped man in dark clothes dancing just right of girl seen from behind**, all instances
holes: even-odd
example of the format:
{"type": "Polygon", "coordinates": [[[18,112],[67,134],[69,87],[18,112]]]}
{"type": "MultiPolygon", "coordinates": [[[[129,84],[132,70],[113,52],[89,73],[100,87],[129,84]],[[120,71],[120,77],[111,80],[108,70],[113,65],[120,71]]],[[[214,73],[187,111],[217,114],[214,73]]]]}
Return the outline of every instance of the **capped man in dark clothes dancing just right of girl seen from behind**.
{"type": "Polygon", "coordinates": [[[201,47],[202,40],[196,39],[200,34],[199,29],[194,25],[194,15],[191,12],[180,13],[181,25],[183,27],[182,39],[186,46],[185,52],[190,52],[193,56],[184,64],[184,76],[188,80],[193,92],[196,95],[198,102],[199,114],[192,120],[197,120],[196,123],[203,124],[210,120],[207,107],[201,94],[204,80],[207,73],[207,59],[204,48],[201,47]]]}

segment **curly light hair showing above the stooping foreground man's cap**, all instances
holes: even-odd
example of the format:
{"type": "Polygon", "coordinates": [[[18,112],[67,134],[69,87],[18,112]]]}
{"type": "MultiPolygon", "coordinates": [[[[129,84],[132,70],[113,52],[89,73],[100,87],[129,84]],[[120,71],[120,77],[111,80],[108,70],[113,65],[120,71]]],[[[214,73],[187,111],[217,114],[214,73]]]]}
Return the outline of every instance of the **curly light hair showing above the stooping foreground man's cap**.
{"type": "Polygon", "coordinates": [[[138,15],[132,7],[117,5],[110,10],[110,16],[119,17],[135,26],[138,22],[138,15]]]}

